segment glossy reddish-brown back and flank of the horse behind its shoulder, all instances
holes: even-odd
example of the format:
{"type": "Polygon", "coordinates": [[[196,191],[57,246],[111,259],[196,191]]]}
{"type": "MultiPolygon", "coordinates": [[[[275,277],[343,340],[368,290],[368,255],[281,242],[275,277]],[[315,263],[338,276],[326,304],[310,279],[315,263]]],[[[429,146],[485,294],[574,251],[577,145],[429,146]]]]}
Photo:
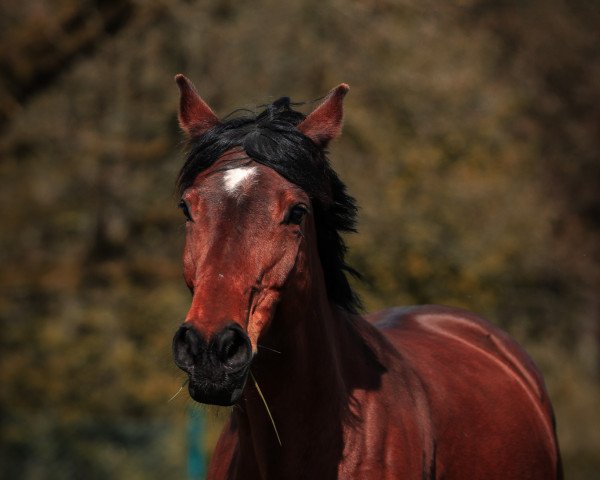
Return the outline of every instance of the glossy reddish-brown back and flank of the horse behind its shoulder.
{"type": "Polygon", "coordinates": [[[542,377],[506,333],[442,306],[390,309],[370,320],[423,384],[437,478],[562,478],[542,377]]]}

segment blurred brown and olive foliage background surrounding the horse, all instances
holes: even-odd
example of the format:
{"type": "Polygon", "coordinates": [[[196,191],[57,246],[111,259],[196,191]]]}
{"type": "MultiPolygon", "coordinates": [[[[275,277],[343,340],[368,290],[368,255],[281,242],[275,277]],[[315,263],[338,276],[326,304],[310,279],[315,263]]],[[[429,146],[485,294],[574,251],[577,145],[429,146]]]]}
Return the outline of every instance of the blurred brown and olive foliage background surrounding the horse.
{"type": "Polygon", "coordinates": [[[169,402],[182,72],[221,116],[349,83],[331,159],[367,310],[506,328],[566,478],[599,478],[598,25],[593,0],[2,0],[0,477],[186,479],[210,455],[227,411],[169,402]]]}

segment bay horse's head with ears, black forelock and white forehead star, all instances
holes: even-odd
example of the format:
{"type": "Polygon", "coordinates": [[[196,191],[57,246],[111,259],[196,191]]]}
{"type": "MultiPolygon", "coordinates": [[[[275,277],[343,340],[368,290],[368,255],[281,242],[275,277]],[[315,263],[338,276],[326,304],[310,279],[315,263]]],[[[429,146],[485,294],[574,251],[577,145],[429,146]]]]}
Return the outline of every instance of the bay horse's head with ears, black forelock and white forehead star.
{"type": "Polygon", "coordinates": [[[341,131],[348,86],[306,117],[284,97],[259,115],[222,122],[188,79],[176,81],[191,145],[179,186],[192,303],[173,354],[192,398],[233,405],[284,299],[309,302],[317,283],[340,303],[355,301],[338,234],[352,229],[355,207],[324,154],[341,131]],[[331,228],[319,234],[321,220],[331,228]]]}

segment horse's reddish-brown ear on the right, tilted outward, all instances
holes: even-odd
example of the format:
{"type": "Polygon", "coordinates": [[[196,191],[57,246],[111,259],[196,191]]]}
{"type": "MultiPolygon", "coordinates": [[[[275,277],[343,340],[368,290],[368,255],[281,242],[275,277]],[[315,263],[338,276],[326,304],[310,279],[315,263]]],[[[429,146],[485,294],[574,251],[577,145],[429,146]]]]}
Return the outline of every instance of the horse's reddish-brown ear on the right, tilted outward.
{"type": "Polygon", "coordinates": [[[348,90],[350,87],[345,83],[335,87],[325,97],[323,103],[298,125],[298,130],[317,145],[325,147],[342,133],[343,101],[348,90]]]}

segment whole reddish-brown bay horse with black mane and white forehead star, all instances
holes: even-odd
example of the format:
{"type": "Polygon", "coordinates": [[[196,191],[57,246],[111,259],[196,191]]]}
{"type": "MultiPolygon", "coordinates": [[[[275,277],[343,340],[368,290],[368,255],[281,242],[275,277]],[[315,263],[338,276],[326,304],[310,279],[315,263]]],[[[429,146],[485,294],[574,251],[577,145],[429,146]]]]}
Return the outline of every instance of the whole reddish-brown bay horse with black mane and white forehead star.
{"type": "Polygon", "coordinates": [[[562,478],[542,377],[506,333],[444,306],[362,316],[341,234],[356,206],[325,149],[339,85],[219,120],[183,75],[178,186],[190,396],[233,405],[209,479],[562,478]]]}

